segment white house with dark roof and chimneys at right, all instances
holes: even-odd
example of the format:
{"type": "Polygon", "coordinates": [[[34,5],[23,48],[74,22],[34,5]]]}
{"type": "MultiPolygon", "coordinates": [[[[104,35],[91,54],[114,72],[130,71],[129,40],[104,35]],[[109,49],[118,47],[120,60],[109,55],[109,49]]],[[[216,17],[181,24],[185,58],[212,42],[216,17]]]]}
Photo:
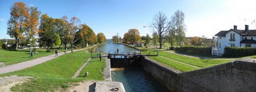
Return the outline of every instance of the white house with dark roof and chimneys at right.
{"type": "Polygon", "coordinates": [[[233,29],[219,31],[218,48],[213,49],[212,54],[221,55],[225,47],[256,47],[256,30],[249,30],[249,25],[245,25],[244,30],[238,30],[234,25],[233,29]]]}

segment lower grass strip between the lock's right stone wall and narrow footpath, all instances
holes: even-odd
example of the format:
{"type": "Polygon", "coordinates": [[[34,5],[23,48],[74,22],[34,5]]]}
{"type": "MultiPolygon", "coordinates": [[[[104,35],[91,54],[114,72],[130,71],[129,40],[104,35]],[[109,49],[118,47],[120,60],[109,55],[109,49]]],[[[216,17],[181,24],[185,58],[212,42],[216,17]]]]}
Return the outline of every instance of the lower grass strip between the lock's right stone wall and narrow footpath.
{"type": "Polygon", "coordinates": [[[199,68],[196,67],[191,67],[185,64],[181,64],[179,62],[175,62],[175,61],[170,61],[169,59],[165,59],[163,57],[159,57],[159,56],[154,56],[154,57],[150,57],[151,59],[155,59],[157,62],[160,62],[162,64],[166,64],[168,65],[168,67],[172,67],[176,70],[185,72],[185,71],[191,71],[191,70],[197,70],[199,68]]]}

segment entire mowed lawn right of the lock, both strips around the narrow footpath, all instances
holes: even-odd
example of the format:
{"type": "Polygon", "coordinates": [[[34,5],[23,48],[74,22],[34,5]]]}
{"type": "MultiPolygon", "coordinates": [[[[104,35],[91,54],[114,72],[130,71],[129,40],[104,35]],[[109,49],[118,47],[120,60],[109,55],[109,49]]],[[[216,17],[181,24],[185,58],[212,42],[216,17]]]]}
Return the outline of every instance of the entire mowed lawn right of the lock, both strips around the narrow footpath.
{"type": "Polygon", "coordinates": [[[235,59],[201,59],[196,57],[187,57],[179,54],[168,53],[165,51],[159,51],[159,55],[166,57],[168,59],[165,59],[159,56],[151,57],[151,59],[155,59],[156,61],[162,64],[166,64],[169,67],[175,68],[176,70],[183,71],[183,72],[197,70],[200,68],[212,67],[214,65],[224,64],[226,62],[235,60],[235,59]],[[174,61],[171,61],[169,59],[172,59],[174,61]],[[175,62],[175,61],[178,61],[178,62],[175,62]],[[200,68],[191,67],[189,65],[181,64],[179,62],[183,62],[185,64],[193,65],[200,68]]]}

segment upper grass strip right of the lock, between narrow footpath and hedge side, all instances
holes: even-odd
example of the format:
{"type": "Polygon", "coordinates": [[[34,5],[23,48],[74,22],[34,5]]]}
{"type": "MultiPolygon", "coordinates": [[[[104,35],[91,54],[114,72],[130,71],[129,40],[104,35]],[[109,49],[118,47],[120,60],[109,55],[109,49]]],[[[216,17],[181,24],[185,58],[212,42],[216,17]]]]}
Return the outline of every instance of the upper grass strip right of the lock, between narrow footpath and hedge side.
{"type": "Polygon", "coordinates": [[[210,67],[216,64],[222,64],[222,63],[230,62],[234,60],[234,59],[199,59],[195,57],[187,57],[179,54],[168,53],[165,51],[159,51],[159,55],[167,57],[169,59],[173,59],[175,61],[183,62],[185,64],[190,64],[190,65],[194,65],[196,67],[201,67],[201,68],[210,67]]]}

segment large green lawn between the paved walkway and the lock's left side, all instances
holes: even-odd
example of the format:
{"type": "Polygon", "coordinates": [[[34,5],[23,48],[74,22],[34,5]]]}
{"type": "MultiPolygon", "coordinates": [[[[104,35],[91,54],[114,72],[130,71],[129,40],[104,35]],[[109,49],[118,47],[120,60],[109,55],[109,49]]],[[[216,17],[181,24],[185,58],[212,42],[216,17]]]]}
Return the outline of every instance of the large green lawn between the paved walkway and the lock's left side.
{"type": "MultiPolygon", "coordinates": [[[[80,82],[85,79],[102,80],[102,66],[104,62],[90,62],[87,67],[94,65],[93,70],[89,71],[91,77],[79,77],[71,79],[74,73],[84,64],[85,61],[91,56],[90,53],[77,51],[74,53],[64,54],[51,61],[44,62],[43,64],[34,67],[26,68],[24,70],[15,71],[12,73],[1,74],[0,76],[32,76],[29,82],[24,82],[22,85],[13,87],[13,91],[65,91],[73,82],[80,82]],[[90,73],[93,71],[100,71],[90,73]],[[99,76],[100,75],[100,76],[99,76]],[[98,77],[94,77],[98,76],[98,77]]],[[[91,61],[95,61],[92,59],[91,61]]],[[[76,84],[73,84],[76,85],[76,84]]]]}

